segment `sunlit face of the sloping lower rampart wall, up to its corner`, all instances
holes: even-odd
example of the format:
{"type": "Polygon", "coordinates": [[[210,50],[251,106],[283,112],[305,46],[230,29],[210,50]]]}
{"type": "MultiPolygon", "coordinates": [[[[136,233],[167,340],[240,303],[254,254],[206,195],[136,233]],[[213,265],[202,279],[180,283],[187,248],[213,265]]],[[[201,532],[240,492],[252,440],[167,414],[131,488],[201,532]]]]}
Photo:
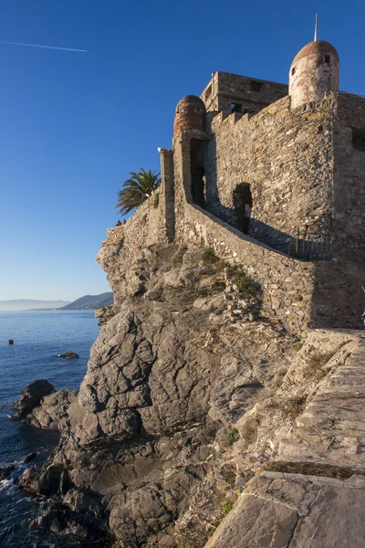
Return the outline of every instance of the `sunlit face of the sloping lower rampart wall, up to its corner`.
{"type": "Polygon", "coordinates": [[[186,242],[203,242],[214,248],[218,257],[241,264],[261,285],[263,314],[282,321],[289,332],[304,336],[312,326],[313,263],[260,245],[197,205],[185,205],[185,224],[179,236],[186,242]]]}

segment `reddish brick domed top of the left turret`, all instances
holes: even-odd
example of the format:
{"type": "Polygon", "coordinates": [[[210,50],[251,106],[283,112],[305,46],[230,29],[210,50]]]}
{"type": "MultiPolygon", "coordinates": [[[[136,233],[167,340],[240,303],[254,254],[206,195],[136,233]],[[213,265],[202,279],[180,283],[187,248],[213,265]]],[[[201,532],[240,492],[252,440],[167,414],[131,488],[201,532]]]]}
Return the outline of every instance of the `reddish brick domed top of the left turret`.
{"type": "Polygon", "coordinates": [[[176,107],[173,134],[190,132],[191,130],[204,131],[205,105],[200,97],[187,95],[180,100],[176,107]]]}

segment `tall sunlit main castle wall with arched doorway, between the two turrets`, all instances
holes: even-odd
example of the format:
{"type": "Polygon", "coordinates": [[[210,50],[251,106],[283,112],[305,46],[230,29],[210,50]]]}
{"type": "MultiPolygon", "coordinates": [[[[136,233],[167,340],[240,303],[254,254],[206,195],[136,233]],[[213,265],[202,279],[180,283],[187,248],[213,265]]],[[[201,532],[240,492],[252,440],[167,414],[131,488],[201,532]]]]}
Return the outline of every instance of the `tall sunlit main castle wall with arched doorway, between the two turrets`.
{"type": "Polygon", "coordinates": [[[295,111],[276,101],[253,117],[212,121],[206,145],[206,208],[233,223],[234,191],[250,184],[249,234],[288,250],[297,228],[330,232],[333,209],[333,96],[295,111]]]}

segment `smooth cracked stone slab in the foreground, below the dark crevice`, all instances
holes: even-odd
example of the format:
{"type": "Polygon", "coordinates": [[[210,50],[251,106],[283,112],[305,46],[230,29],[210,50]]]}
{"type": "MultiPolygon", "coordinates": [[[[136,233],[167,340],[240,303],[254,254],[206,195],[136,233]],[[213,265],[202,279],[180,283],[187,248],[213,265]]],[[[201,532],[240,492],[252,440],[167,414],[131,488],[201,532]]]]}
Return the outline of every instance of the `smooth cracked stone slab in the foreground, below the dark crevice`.
{"type": "Polygon", "coordinates": [[[244,493],[205,548],[360,548],[365,478],[267,473],[244,493]]]}

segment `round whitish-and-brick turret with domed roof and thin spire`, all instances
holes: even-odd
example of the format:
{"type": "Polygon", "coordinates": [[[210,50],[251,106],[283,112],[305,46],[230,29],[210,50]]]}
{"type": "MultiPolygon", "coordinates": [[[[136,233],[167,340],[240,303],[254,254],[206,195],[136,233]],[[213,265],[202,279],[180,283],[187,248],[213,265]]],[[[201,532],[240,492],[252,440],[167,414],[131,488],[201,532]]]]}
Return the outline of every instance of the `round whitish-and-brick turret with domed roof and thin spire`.
{"type": "Polygon", "coordinates": [[[318,40],[316,15],[314,41],[299,51],[290,67],[291,107],[321,100],[330,91],[339,91],[339,54],[329,42],[318,40]]]}

